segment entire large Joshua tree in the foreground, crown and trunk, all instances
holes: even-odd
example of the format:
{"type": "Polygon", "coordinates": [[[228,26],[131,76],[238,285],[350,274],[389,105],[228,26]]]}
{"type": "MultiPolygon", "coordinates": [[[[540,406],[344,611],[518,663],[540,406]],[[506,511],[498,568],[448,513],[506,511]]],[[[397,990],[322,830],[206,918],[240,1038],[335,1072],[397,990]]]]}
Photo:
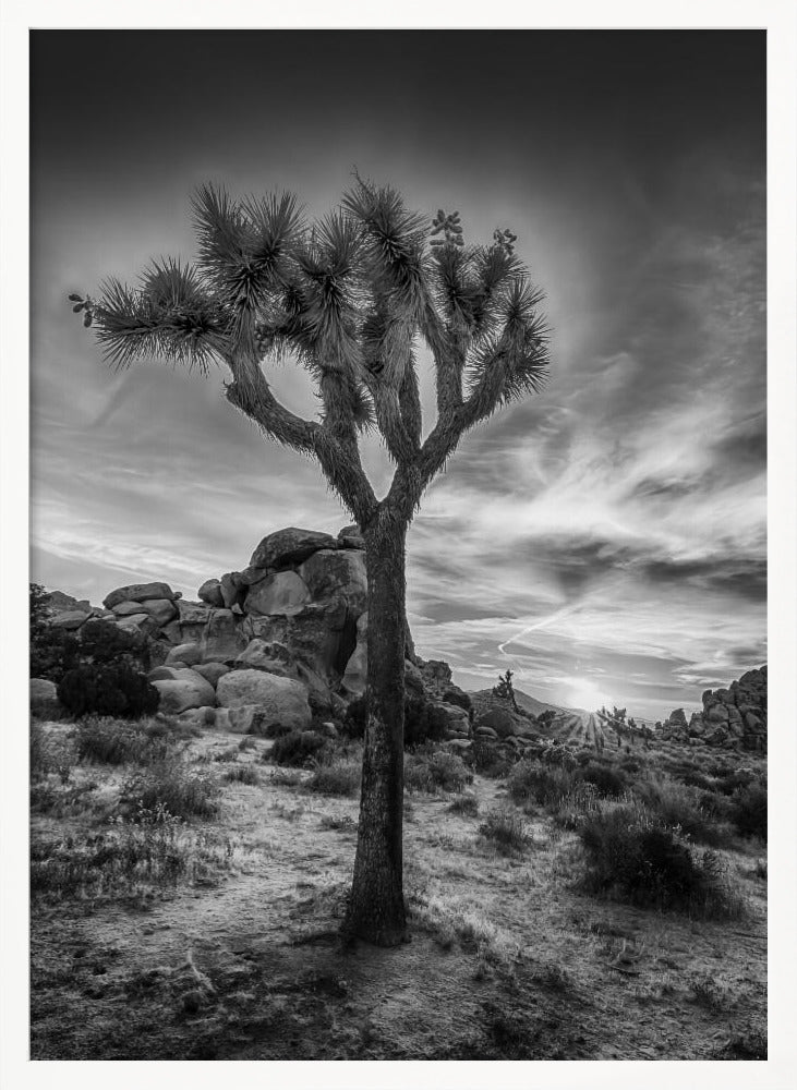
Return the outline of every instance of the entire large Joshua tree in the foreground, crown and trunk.
{"type": "Polygon", "coordinates": [[[421,496],[469,428],[538,391],[546,374],[542,293],[515,235],[466,245],[459,215],[408,210],[389,186],[355,182],[307,223],[293,196],[194,197],[194,264],[154,262],[136,287],[70,296],[108,361],[160,358],[228,373],[227,400],[269,439],[314,457],[365,540],[367,728],[360,832],[345,931],[383,945],[406,932],[402,893],[404,542],[421,496]],[[422,441],[415,352],[436,375],[437,420],[422,441]],[[262,365],[290,356],[321,402],[303,420],[262,365]],[[395,463],[376,497],[359,436],[381,432],[395,463]]]}

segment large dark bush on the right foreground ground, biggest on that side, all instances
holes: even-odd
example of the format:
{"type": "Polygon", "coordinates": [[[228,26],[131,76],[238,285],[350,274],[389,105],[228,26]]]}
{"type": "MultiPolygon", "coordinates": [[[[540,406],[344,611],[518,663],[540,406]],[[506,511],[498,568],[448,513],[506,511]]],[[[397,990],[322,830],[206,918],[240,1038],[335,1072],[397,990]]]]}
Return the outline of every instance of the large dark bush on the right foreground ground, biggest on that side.
{"type": "Polygon", "coordinates": [[[716,852],[698,852],[644,807],[626,806],[587,816],[580,827],[590,869],[584,885],[639,907],[733,917],[739,901],[724,882],[716,852]]]}

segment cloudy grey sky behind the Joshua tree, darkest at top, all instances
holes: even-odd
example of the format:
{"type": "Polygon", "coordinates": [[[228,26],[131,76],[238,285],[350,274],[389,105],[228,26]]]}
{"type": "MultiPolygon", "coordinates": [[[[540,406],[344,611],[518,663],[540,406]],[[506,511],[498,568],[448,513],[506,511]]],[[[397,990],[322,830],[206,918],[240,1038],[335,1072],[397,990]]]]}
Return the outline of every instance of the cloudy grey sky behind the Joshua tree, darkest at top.
{"type": "MultiPolygon", "coordinates": [[[[194,597],[350,518],[203,378],[102,362],[70,291],[189,258],[190,197],[354,167],[495,227],[546,292],[544,392],[470,433],[408,536],[418,652],[469,689],[664,718],[766,661],[761,32],[34,32],[31,578],[194,597]]],[[[433,376],[420,354],[426,431],[433,376]]],[[[294,411],[307,377],[268,370],[294,411]]],[[[390,464],[364,444],[377,492],[390,464]]]]}

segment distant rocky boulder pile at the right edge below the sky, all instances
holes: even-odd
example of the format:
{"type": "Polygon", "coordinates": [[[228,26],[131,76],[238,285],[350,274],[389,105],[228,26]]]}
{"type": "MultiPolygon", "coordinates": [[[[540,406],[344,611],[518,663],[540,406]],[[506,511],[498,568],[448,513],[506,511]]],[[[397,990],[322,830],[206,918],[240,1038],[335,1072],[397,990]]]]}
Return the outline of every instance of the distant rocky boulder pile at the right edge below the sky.
{"type": "Polygon", "coordinates": [[[707,689],[702,712],[687,723],[676,708],[656,731],[662,740],[766,751],[766,666],[748,670],[727,689],[707,689]]]}

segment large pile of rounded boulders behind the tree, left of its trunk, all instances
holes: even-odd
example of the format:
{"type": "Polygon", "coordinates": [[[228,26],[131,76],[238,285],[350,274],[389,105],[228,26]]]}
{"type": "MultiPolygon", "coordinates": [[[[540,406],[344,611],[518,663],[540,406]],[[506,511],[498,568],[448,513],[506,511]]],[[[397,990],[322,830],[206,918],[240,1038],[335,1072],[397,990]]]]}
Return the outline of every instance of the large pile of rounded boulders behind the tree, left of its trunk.
{"type": "Polygon", "coordinates": [[[313,712],[340,714],[365,688],[367,580],[355,526],[337,537],[293,526],[268,534],[242,571],[205,580],[196,601],[155,581],[114,589],[102,609],[60,592],[48,605],[50,622],[77,639],[97,617],[141,634],[161,711],[202,723],[302,729],[313,712]]]}

